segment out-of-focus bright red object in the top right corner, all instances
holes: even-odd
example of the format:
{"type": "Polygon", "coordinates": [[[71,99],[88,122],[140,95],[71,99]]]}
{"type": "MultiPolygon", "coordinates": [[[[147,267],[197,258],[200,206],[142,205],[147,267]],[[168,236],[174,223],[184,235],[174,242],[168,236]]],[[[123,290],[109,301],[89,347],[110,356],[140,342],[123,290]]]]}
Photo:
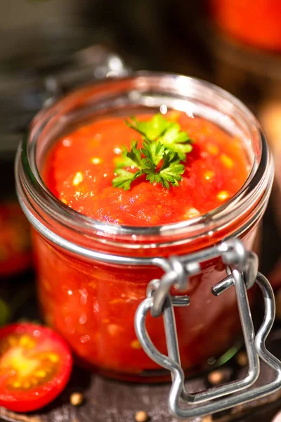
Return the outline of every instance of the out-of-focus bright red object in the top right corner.
{"type": "Polygon", "coordinates": [[[210,0],[211,15],[230,36],[258,49],[281,51],[279,0],[210,0]]]}

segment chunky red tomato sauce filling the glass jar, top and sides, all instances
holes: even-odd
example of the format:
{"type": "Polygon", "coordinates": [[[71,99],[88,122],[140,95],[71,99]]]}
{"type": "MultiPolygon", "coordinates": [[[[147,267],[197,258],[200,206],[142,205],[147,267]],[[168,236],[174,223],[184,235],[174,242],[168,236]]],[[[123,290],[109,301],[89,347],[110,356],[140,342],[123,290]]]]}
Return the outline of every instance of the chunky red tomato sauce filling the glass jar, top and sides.
{"type": "MultiPolygon", "coordinates": [[[[122,146],[129,147],[131,139],[138,137],[122,117],[93,122],[58,139],[42,173],[46,186],[77,212],[135,226],[179,222],[225,203],[249,173],[242,141],[199,117],[177,112],[166,117],[177,119],[181,130],[195,141],[179,186],[167,190],[141,178],[129,191],[112,186],[122,146]]],[[[256,228],[257,224],[251,225],[242,234],[247,248],[253,246],[256,228]]],[[[157,377],[159,366],[143,352],[133,319],[148,282],[161,277],[162,271],[89,262],[38,234],[34,235],[34,247],[45,319],[63,335],[80,361],[117,378],[148,381],[157,377]]],[[[142,253],[145,256],[147,250],[142,253]]],[[[185,253],[185,247],[179,245],[177,253],[185,253]]],[[[202,272],[190,279],[185,292],[190,295],[190,306],[175,309],[185,371],[201,369],[210,357],[221,356],[240,333],[234,289],[218,298],[211,294],[211,287],[224,276],[220,260],[204,262],[202,272]]],[[[147,328],[155,346],[166,353],[162,318],[149,314],[147,328]]]]}

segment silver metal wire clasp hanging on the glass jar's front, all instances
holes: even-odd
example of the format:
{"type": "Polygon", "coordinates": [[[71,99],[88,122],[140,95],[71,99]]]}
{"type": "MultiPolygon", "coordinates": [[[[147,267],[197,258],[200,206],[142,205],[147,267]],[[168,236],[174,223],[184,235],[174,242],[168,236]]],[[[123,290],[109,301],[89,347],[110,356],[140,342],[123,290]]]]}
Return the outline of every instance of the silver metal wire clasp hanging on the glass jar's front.
{"type": "Polygon", "coordinates": [[[162,279],[154,279],[148,285],[147,298],[141,302],[136,311],[135,328],[138,340],[148,356],[160,366],[171,371],[172,384],[168,399],[171,414],[185,419],[206,416],[269,395],[280,388],[281,362],[268,352],[265,345],[275,318],[274,295],[269,281],[257,271],[258,258],[256,254],[245,250],[240,240],[231,239],[195,254],[170,257],[167,261],[167,269],[162,279]],[[184,385],[174,306],[188,306],[190,300],[188,296],[171,296],[169,290],[172,286],[178,290],[187,288],[189,276],[200,272],[200,263],[214,257],[221,257],[226,264],[228,276],[217,283],[216,286],[213,286],[211,292],[218,296],[232,286],[235,288],[249,362],[248,372],[247,376],[241,380],[225,383],[218,387],[209,388],[209,390],[189,393],[185,390],[184,385]],[[254,283],[257,283],[261,288],[265,306],[263,323],[256,335],[247,298],[247,289],[254,286],[254,283]],[[163,314],[168,356],[160,353],[150,340],[145,328],[145,319],[148,312],[151,312],[152,316],[155,317],[163,314]],[[262,359],[275,370],[275,380],[268,385],[244,391],[253,385],[259,377],[259,359],[262,359]],[[233,393],[238,394],[230,396],[233,393]],[[216,400],[213,401],[214,399],[216,400]],[[181,404],[193,404],[193,406],[183,408],[181,404]]]}

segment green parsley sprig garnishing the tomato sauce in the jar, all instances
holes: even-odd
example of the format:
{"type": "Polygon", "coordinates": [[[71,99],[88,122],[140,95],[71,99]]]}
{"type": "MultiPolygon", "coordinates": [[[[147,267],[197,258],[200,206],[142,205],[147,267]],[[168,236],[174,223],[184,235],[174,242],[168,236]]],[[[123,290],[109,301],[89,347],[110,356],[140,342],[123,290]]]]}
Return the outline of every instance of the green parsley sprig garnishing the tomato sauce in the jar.
{"type": "Polygon", "coordinates": [[[125,123],[141,134],[143,146],[138,148],[138,142],[133,140],[130,151],[123,148],[122,160],[115,169],[113,186],[128,191],[131,183],[144,174],[150,183],[161,183],[167,189],[170,184],[178,186],[185,171],[181,161],[185,161],[185,154],[192,150],[193,141],[187,132],[181,131],[180,124],[160,114],[146,122],[132,117],[125,123]]]}

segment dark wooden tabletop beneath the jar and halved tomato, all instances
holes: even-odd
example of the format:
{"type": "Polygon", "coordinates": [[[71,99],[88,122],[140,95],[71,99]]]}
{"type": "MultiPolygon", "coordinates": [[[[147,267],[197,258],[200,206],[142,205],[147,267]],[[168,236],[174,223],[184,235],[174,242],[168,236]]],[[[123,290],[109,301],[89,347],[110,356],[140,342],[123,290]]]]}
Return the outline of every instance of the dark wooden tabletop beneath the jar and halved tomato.
{"type": "MultiPolygon", "coordinates": [[[[281,332],[275,331],[277,340],[270,341],[270,348],[279,354],[281,348],[281,332]]],[[[225,380],[244,375],[246,369],[237,371],[235,364],[226,366],[225,380]]],[[[273,371],[266,366],[261,366],[261,379],[258,385],[271,381],[273,371]]],[[[195,378],[187,382],[190,392],[209,387],[207,377],[195,378]]],[[[174,422],[176,418],[169,414],[166,406],[166,397],[169,392],[169,384],[166,385],[132,385],[118,383],[89,372],[75,368],[72,379],[63,392],[46,409],[38,414],[20,415],[0,409],[3,421],[22,422],[129,422],[135,420],[137,411],[143,410],[150,416],[150,421],[174,422]],[[69,402],[72,392],[82,392],[85,400],[81,407],[74,407],[69,402]]],[[[214,416],[216,421],[270,421],[281,407],[280,395],[274,395],[267,399],[261,399],[251,404],[226,411],[214,416]],[[265,402],[267,404],[265,404],[265,402]]],[[[199,422],[200,419],[196,419],[199,422]]],[[[194,421],[195,422],[195,421],[194,421]]]]}

